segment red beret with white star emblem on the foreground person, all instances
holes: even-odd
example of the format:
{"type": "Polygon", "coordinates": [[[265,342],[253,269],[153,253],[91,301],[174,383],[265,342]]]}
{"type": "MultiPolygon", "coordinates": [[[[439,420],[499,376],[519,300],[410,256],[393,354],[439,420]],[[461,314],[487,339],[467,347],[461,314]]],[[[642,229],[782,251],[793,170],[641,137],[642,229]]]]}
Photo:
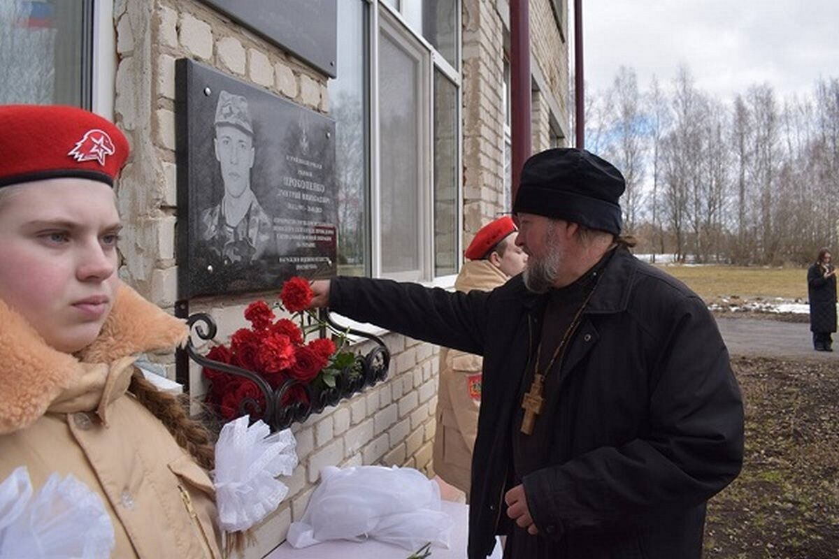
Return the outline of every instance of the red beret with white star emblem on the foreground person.
{"type": "Polygon", "coordinates": [[[113,186],[128,140],[102,116],[75,106],[0,105],[0,187],[78,177],[113,186]]]}

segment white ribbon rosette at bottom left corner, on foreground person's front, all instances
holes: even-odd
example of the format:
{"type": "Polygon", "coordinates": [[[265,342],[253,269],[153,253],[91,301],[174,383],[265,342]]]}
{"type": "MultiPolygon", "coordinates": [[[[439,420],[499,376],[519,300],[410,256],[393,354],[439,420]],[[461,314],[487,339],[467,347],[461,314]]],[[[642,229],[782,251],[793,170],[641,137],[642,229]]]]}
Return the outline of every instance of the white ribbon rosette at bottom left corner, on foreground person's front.
{"type": "Polygon", "coordinates": [[[50,475],[37,494],[25,466],[0,483],[0,558],[99,559],[114,545],[102,499],[72,475],[50,475]]]}

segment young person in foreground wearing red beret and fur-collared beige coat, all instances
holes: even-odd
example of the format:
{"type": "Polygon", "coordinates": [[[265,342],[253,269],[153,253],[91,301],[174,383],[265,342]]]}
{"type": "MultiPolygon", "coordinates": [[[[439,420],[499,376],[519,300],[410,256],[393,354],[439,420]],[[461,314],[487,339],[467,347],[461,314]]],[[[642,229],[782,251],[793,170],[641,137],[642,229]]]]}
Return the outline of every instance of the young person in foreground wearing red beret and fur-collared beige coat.
{"type": "MultiPolygon", "coordinates": [[[[211,440],[134,365],[188,331],[117,277],[112,183],[126,138],[56,106],[0,106],[0,130],[0,482],[28,475],[22,495],[35,499],[53,474],[72,476],[83,498],[65,494],[27,526],[50,531],[62,507],[85,503],[91,517],[65,536],[102,537],[98,551],[68,543],[60,556],[221,557],[211,440]]],[[[19,536],[2,524],[0,556],[15,556],[19,536]]]]}

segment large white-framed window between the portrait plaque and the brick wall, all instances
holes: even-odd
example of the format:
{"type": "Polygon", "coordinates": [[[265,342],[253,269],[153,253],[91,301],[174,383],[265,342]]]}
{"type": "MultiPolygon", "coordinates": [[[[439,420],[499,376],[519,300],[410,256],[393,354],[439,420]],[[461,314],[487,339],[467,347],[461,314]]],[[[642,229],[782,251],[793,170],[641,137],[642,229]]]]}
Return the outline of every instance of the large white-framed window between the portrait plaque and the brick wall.
{"type": "Polygon", "coordinates": [[[461,252],[460,2],[338,6],[339,270],[450,277],[461,252]]]}

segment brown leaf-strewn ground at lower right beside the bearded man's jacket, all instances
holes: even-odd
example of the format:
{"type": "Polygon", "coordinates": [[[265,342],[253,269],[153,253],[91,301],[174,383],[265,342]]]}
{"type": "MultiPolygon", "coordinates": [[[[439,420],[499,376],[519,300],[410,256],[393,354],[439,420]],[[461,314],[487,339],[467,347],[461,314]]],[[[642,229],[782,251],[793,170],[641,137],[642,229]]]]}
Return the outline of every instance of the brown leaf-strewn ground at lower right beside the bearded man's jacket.
{"type": "Polygon", "coordinates": [[[839,557],[836,364],[738,357],[743,472],[711,499],[706,559],[839,557]]]}

